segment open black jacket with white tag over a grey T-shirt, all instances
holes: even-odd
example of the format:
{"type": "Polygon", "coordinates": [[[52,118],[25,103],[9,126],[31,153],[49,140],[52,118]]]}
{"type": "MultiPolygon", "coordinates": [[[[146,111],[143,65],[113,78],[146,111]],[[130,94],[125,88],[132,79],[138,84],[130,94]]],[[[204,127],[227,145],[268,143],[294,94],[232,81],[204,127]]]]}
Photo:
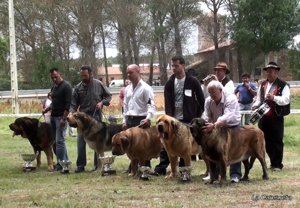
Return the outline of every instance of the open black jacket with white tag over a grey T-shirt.
{"type": "MultiPolygon", "coordinates": [[[[174,115],[174,82],[175,75],[173,74],[169,80],[166,81],[164,85],[164,111],[168,116],[174,115]]],[[[193,118],[199,116],[197,115],[197,105],[199,103],[202,111],[204,110],[205,98],[202,92],[202,88],[200,86],[199,81],[191,76],[189,73],[185,73],[185,80],[183,85],[183,121],[186,123],[191,122],[193,118]],[[191,90],[191,97],[186,96],[184,91],[188,89],[191,90]],[[197,100],[196,100],[197,99],[197,100]]]]}

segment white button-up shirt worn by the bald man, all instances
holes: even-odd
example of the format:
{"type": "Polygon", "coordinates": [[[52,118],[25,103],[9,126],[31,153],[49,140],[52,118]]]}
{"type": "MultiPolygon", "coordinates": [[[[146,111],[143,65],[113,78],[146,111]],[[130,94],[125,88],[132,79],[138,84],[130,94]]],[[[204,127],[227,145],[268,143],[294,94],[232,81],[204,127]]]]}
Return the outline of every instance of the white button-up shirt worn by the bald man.
{"type": "Polygon", "coordinates": [[[123,123],[126,123],[128,116],[146,116],[146,119],[151,119],[154,112],[152,87],[140,79],[133,90],[130,82],[125,88],[123,123]]]}

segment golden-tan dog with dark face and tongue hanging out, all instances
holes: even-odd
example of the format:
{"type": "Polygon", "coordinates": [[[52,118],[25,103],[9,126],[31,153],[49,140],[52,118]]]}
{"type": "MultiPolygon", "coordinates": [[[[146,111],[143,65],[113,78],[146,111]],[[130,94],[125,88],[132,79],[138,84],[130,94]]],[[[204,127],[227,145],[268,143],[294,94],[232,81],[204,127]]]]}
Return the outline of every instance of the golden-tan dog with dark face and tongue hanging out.
{"type": "Polygon", "coordinates": [[[185,166],[190,166],[190,156],[200,154],[206,165],[206,173],[209,172],[208,160],[202,154],[201,147],[197,145],[189,132],[189,126],[181,124],[178,120],[163,115],[157,119],[156,129],[159,132],[158,137],[164,146],[171,165],[171,174],[165,178],[176,176],[176,167],[178,157],[184,160],[185,166]]]}

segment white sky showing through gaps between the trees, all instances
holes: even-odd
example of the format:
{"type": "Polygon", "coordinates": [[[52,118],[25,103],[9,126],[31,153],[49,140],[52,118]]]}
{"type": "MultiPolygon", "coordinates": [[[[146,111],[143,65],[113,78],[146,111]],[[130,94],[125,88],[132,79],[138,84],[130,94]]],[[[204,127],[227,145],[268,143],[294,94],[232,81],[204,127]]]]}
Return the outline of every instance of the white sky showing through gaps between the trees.
{"type": "MultiPolygon", "coordinates": [[[[201,9],[204,11],[204,12],[210,12],[210,9],[207,8],[206,4],[201,2],[201,9]]],[[[223,8],[220,8],[218,13],[220,14],[224,14],[225,13],[225,10],[223,8]]],[[[192,31],[192,36],[191,38],[187,41],[187,52],[189,54],[194,54],[197,52],[197,49],[198,49],[198,40],[197,40],[197,37],[198,37],[198,30],[197,28],[195,27],[195,29],[192,31]]],[[[296,42],[299,42],[300,41],[300,35],[297,35],[296,37],[294,37],[294,40],[296,42]]],[[[103,57],[102,55],[103,53],[101,52],[100,54],[100,57],[103,57]]],[[[117,49],[116,48],[107,48],[106,47],[106,56],[107,58],[112,56],[112,57],[115,57],[117,55],[117,49]]],[[[79,56],[79,53],[78,53],[78,50],[74,50],[74,52],[72,53],[72,57],[73,58],[77,58],[79,56]]]]}

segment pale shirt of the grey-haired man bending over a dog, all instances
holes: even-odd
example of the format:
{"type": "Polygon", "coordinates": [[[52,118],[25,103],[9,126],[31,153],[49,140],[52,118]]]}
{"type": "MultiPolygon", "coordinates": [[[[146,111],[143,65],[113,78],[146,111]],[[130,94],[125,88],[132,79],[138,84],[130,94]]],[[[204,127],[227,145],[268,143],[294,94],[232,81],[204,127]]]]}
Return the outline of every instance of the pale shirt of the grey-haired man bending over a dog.
{"type": "Polygon", "coordinates": [[[222,121],[224,127],[236,126],[240,123],[239,105],[236,96],[222,91],[222,97],[218,105],[209,96],[205,100],[203,119],[209,123],[222,121]]]}

